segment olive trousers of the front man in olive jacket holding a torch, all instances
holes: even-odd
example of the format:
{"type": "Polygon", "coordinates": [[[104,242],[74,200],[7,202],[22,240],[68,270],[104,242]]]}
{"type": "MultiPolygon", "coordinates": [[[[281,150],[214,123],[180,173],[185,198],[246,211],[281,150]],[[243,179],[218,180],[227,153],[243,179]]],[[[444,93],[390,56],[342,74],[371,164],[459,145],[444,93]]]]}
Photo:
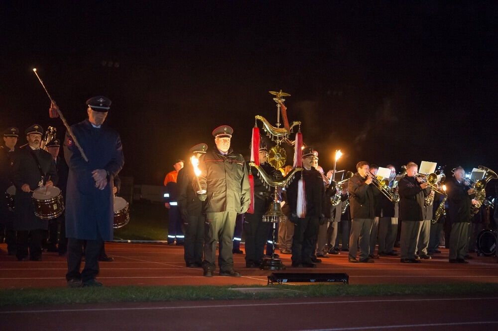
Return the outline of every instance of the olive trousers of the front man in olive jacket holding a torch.
{"type": "Polygon", "coordinates": [[[206,213],[204,222],[204,262],[203,267],[214,269],[216,266],[216,244],[219,242],[220,252],[218,264],[220,271],[228,271],[234,266],[234,253],[232,252],[236,212],[206,213]]]}

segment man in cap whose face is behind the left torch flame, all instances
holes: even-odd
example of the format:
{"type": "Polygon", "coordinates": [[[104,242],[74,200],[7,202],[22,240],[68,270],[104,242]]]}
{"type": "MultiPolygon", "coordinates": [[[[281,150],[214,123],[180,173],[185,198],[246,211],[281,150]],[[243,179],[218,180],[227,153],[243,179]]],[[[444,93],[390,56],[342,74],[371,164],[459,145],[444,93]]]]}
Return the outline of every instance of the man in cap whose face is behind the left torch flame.
{"type": "MultiPolygon", "coordinates": [[[[197,144],[189,153],[196,159],[206,154],[208,145],[197,144]]],[[[196,181],[194,167],[190,160],[178,172],[176,180],[178,188],[178,208],[185,227],[184,254],[187,268],[202,266],[202,248],[204,245],[204,215],[202,201],[197,198],[192,183],[196,181]]]]}

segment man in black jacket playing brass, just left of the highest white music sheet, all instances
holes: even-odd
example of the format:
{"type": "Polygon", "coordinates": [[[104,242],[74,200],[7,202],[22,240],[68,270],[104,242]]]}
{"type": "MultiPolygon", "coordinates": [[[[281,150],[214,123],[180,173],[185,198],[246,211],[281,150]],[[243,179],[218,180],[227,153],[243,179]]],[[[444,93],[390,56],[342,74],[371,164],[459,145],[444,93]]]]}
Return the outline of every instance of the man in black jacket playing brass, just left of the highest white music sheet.
{"type": "Polygon", "coordinates": [[[409,162],[406,175],[399,180],[399,218],[401,226],[401,259],[402,263],[418,263],[415,259],[418,235],[424,220],[424,198],[430,193],[427,182],[416,177],[418,166],[409,162]]]}

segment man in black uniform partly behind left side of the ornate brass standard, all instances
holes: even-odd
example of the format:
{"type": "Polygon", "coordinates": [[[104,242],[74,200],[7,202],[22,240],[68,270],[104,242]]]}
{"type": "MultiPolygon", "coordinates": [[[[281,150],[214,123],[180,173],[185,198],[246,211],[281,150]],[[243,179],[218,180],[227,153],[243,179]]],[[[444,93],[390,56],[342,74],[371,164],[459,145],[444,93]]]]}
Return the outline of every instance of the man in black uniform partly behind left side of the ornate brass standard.
{"type": "MultiPolygon", "coordinates": [[[[268,149],[264,143],[259,144],[259,165],[270,176],[274,176],[276,170],[266,163],[268,149]]],[[[264,253],[264,242],[271,229],[270,222],[263,222],[264,213],[272,201],[271,189],[264,185],[258,176],[258,170],[250,167],[250,173],[254,178],[254,212],[244,214],[244,233],[246,234],[246,267],[253,268],[259,265],[264,253]]],[[[281,177],[281,173],[280,173],[281,177]]]]}

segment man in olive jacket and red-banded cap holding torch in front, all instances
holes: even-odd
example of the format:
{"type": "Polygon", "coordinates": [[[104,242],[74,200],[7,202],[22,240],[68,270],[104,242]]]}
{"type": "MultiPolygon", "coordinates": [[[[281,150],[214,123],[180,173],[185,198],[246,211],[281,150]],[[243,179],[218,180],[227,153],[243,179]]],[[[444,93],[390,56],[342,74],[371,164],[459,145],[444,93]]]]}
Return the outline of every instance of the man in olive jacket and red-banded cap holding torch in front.
{"type": "Polygon", "coordinates": [[[196,192],[205,200],[206,214],[204,261],[205,277],[212,277],[215,270],[216,246],[220,242],[218,263],[220,276],[240,277],[234,270],[233,235],[237,214],[245,213],[250,204],[249,177],[242,155],[230,148],[234,129],[222,125],[213,130],[216,148],[199,160],[200,187],[194,182],[196,192]]]}

